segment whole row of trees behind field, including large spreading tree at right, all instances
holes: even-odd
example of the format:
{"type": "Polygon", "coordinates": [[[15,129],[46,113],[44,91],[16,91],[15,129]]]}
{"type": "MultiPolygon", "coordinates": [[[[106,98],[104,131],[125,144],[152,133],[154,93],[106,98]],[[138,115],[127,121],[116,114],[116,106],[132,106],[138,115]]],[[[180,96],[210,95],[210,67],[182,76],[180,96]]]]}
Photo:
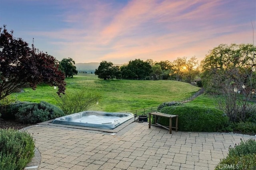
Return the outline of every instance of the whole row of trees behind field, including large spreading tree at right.
{"type": "Polygon", "coordinates": [[[200,77],[209,92],[218,91],[220,84],[230,74],[231,78],[236,79],[232,82],[240,79],[240,82],[255,89],[255,49],[252,44],[220,44],[210,50],[200,64],[195,56],[190,59],[178,57],[173,62],[135,59],[120,67],[102,61],[95,74],[104,80],[182,80],[188,83],[200,77]]]}

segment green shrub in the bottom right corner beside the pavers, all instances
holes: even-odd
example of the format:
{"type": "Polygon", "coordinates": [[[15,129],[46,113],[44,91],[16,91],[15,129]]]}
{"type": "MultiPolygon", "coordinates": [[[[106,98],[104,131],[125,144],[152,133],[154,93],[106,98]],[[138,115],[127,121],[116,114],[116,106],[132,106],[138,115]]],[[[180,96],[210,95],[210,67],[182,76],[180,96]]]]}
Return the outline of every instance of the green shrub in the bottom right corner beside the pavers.
{"type": "Polygon", "coordinates": [[[256,168],[256,141],[254,139],[248,139],[242,141],[239,145],[231,146],[228,149],[228,156],[220,161],[215,170],[221,169],[248,169],[252,170],[256,168]],[[229,168],[223,168],[224,165],[229,168]]]}

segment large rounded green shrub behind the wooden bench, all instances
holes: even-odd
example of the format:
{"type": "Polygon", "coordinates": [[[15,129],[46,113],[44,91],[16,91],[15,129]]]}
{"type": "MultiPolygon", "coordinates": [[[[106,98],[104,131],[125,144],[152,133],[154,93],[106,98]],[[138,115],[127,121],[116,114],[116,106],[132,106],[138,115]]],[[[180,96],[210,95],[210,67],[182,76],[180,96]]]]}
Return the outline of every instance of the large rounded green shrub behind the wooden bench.
{"type": "MultiPolygon", "coordinates": [[[[172,106],[164,107],[160,112],[178,115],[180,131],[216,132],[222,131],[228,123],[228,117],[223,111],[211,107],[172,106]]],[[[154,118],[152,121],[154,122],[154,118]]],[[[165,117],[158,117],[157,122],[161,125],[169,125],[169,119],[165,117]]]]}

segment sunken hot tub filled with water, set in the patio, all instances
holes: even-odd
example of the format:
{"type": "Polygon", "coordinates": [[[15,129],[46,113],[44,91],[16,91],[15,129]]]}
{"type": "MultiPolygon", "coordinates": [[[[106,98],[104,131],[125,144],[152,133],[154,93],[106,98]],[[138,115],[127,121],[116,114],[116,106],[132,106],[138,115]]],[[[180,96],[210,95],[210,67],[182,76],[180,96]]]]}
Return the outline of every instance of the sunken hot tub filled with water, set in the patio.
{"type": "Polygon", "coordinates": [[[63,125],[77,125],[85,127],[97,127],[102,129],[114,129],[125,121],[132,119],[132,113],[112,113],[103,111],[82,111],[71,115],[58,117],[52,123],[63,125]]]}

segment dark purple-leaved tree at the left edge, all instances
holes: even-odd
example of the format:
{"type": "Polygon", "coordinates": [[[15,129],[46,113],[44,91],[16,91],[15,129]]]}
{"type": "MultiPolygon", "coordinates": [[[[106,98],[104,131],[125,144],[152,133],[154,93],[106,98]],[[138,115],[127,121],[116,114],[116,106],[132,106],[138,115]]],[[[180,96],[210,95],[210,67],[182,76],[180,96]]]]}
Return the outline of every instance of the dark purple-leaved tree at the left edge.
{"type": "Polygon", "coordinates": [[[64,94],[64,79],[54,57],[34,45],[28,47],[23,39],[13,36],[13,31],[9,33],[6,25],[0,27],[0,100],[27,84],[33,90],[39,83],[58,86],[57,94],[64,94]]]}

